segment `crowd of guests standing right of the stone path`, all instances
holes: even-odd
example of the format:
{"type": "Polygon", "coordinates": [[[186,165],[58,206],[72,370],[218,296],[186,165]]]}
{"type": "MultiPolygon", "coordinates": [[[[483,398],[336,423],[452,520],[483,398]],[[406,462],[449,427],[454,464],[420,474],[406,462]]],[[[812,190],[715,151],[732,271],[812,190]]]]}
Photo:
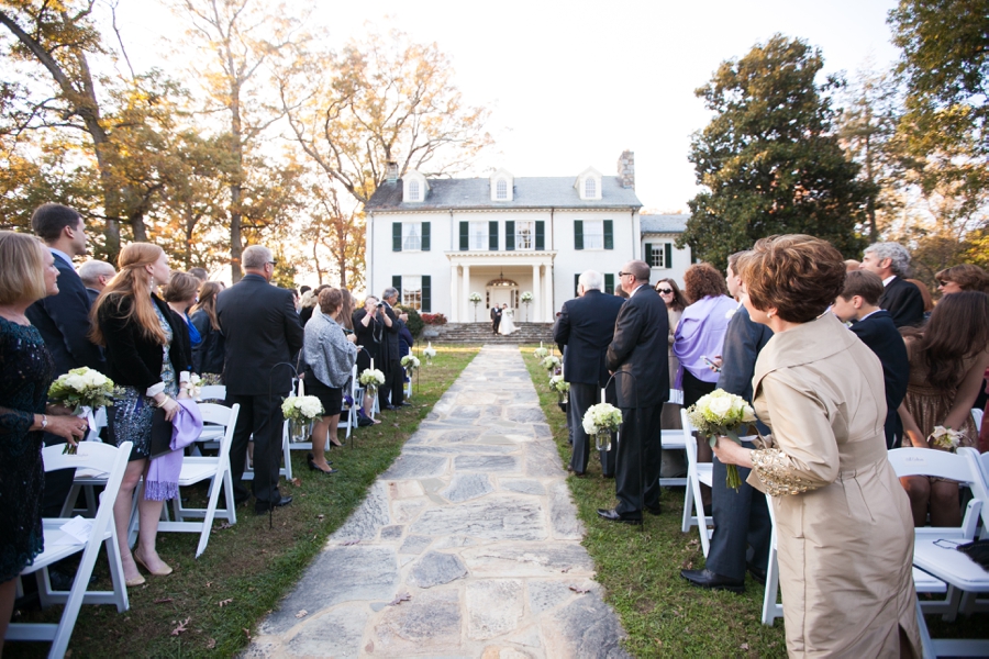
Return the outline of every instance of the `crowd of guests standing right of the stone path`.
{"type": "Polygon", "coordinates": [[[612,303],[603,277],[586,271],[554,327],[575,476],[586,477],[580,420],[598,392],[622,411],[621,442],[600,455],[618,502],[598,511],[603,520],[662,513],[659,428],[679,423],[667,382],[682,405],[715,388],[752,402],[758,433],[713,449],[710,551],[682,577],[734,592],[746,572],[765,583],[770,495],[791,655],[921,655],[913,527],[959,525],[960,492],[952,481],[897,479],[886,454],[937,449],[936,425],[989,448],[986,422],[980,440],[971,417],[986,404],[989,276],[970,265],[937,272],[935,305],[907,280],[909,263],[897,243],[870,245],[859,263],[811,236],[774,236],[733,255],[725,277],[690,266],[684,294],[670,279],[651,287],[648,266],[631,261],[615,291],[624,301],[612,303]],[[737,490],[725,485],[727,465],[738,468],[737,490]]]}

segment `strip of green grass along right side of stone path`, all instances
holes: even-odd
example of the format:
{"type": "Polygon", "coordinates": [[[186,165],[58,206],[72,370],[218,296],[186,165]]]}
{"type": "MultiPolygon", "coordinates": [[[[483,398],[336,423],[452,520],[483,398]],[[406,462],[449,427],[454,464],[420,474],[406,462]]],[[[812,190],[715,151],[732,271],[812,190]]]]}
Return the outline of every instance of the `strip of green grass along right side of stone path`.
{"type": "MultiPolygon", "coordinates": [[[[526,368],[549,421],[564,463],[570,459],[566,417],[548,376],[522,348],[526,368]]],[[[746,576],[745,593],[714,592],[689,585],[681,569],[704,566],[697,528],[680,532],[684,488],[663,492],[663,514],[646,514],[643,530],[604,522],[597,509],[613,507],[614,481],[601,478],[601,463],[591,451],[587,478],[567,479],[578,515],[587,528],[584,546],[594,561],[605,600],[629,633],[625,648],[636,657],[786,657],[782,618],[773,627],[760,623],[764,589],[746,576]]],[[[941,599],[941,595],[937,596],[941,599]]],[[[989,614],[978,613],[946,623],[929,615],[934,638],[985,638],[989,614]]]]}

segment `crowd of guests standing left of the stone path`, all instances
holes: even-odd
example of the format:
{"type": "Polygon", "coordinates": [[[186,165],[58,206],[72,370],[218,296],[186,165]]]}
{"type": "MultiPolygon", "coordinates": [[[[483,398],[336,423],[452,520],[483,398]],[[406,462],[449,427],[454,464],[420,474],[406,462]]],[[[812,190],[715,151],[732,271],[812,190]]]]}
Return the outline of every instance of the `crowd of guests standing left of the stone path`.
{"type": "MultiPolygon", "coordinates": [[[[240,404],[231,446],[234,498],[253,494],[255,511],[291,503],[278,490],[281,462],[281,402],[302,380],[320,399],[324,415],[313,424],[309,466],[334,473],[325,457],[336,437],[353,367],[384,371],[384,410],[403,400],[401,357],[411,350],[407,316],[396,310],[389,288],[362,309],[346,289],[295,291],[271,286],[276,261],[270,249],[244,249],[244,277],[226,288],[208,281],[202,268],[173,271],[165,252],[149,243],[124,246],[116,267],[88,260],[84,217],[74,209],[46,203],[31,217],[35,235],[0,231],[0,651],[14,604],[16,577],[41,554],[43,516],[58,516],[73,485],[74,470],[45,473],[42,446],[77,444],[89,432],[85,418],[48,402],[48,388],[71,369],[88,367],[115,384],[108,409],[107,439],[132,442],[130,461],[114,502],[114,521],[124,578],[144,583],[144,572],[167,576],[156,534],[169,488],[143,488],[137,501],[138,536],[133,551],[127,525],[142,478],[155,473],[151,455],[156,416],[171,422],[190,396],[190,373],[226,388],[227,405],[240,404]],[[301,314],[300,314],[301,310],[301,314]],[[303,319],[305,322],[303,322],[303,319]],[[303,328],[304,327],[304,328],[303,328]],[[252,491],[243,482],[247,456],[252,491]]],[[[366,396],[362,425],[374,404],[366,396]]],[[[53,581],[62,576],[52,571],[53,581]]],[[[65,576],[69,580],[70,576],[65,576]]],[[[58,584],[56,584],[58,585],[58,584]]]]}

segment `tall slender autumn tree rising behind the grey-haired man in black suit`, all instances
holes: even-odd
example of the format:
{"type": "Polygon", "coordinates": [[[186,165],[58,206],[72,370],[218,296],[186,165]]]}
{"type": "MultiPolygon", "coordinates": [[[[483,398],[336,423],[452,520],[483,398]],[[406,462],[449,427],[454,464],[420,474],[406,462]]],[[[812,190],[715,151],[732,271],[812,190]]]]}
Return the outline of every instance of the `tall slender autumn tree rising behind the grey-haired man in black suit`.
{"type": "Polygon", "coordinates": [[[266,131],[280,118],[268,102],[268,65],[285,51],[303,49],[308,38],[284,3],[174,0],[171,5],[187,21],[188,35],[203,54],[193,68],[208,98],[205,112],[225,116],[221,132],[229,135],[232,158],[225,176],[230,265],[231,278],[238,281],[248,168],[266,131]]]}

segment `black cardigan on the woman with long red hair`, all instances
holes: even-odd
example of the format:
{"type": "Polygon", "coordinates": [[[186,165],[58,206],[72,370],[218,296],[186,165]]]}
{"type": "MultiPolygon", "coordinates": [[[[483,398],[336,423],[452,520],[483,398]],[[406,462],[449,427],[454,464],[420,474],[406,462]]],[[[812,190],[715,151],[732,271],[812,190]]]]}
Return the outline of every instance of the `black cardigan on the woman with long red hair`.
{"type": "MultiPolygon", "coordinates": [[[[152,295],[152,300],[171,327],[168,358],[178,378],[180,371],[192,368],[189,327],[164,300],[157,295],[152,295]]],[[[116,384],[135,387],[143,392],[162,381],[165,357],[162,344],[147,337],[136,321],[125,317],[132,305],[133,299],[129,295],[109,297],[100,306],[97,322],[107,343],[107,375],[116,384]]]]}

